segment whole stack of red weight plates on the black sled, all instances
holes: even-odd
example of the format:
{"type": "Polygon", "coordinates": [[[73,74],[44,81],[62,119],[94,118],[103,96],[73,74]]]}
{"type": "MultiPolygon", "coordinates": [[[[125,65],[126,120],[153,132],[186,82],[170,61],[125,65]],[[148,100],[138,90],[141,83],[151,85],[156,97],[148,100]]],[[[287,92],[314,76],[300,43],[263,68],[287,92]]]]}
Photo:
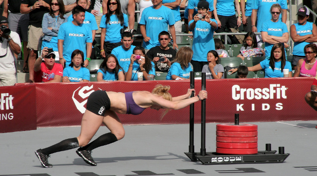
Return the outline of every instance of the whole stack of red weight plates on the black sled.
{"type": "Polygon", "coordinates": [[[217,124],[216,152],[219,154],[257,154],[258,125],[217,124]]]}

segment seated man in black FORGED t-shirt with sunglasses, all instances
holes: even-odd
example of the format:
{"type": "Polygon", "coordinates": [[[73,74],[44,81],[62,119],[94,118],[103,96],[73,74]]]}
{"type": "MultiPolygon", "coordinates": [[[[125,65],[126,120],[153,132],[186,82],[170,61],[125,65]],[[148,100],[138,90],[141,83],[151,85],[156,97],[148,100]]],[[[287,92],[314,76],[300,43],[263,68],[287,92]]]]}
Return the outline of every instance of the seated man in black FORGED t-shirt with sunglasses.
{"type": "Polygon", "coordinates": [[[167,73],[176,56],[176,51],[168,46],[171,35],[167,31],[160,32],[158,40],[160,45],[151,48],[146,55],[153,60],[156,71],[167,73]]]}

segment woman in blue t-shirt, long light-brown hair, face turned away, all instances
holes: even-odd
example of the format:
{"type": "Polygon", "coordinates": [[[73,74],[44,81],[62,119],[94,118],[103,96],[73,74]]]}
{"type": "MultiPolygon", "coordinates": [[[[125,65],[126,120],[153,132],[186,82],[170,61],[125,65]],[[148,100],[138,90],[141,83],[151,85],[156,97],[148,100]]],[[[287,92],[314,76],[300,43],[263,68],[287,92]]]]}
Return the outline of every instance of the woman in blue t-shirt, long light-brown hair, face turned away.
{"type": "Polygon", "coordinates": [[[181,47],[172,61],[171,68],[166,75],[166,80],[189,79],[190,72],[193,71],[190,65],[192,57],[193,50],[190,47],[181,47]]]}

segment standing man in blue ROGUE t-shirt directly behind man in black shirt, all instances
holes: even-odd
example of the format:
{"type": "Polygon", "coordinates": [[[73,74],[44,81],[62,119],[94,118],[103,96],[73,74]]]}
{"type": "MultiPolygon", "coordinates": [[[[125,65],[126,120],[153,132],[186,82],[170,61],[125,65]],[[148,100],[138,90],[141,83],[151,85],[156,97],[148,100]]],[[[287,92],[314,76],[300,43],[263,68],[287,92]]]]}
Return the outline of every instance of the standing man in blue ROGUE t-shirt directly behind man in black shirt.
{"type": "Polygon", "coordinates": [[[167,31],[168,25],[173,38],[173,48],[176,44],[175,18],[168,7],[162,5],[162,0],[152,0],[153,6],[143,10],[140,24],[141,34],[144,38],[143,48],[146,50],[159,45],[158,34],[167,31]]]}

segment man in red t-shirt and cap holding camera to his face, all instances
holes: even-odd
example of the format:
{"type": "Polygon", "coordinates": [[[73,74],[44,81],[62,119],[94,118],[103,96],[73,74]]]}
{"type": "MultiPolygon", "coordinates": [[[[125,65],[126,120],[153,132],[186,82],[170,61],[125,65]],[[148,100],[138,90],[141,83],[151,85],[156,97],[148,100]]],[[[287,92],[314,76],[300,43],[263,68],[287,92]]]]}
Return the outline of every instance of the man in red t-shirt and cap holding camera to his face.
{"type": "Polygon", "coordinates": [[[52,48],[44,47],[42,54],[34,64],[34,82],[60,82],[63,67],[55,63],[55,53],[52,48]],[[44,60],[44,62],[42,62],[44,60]]]}

